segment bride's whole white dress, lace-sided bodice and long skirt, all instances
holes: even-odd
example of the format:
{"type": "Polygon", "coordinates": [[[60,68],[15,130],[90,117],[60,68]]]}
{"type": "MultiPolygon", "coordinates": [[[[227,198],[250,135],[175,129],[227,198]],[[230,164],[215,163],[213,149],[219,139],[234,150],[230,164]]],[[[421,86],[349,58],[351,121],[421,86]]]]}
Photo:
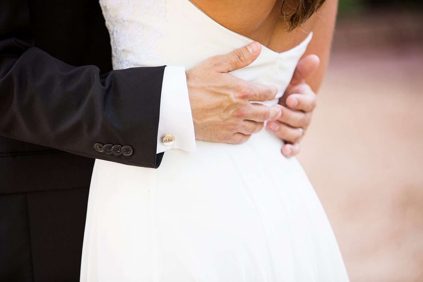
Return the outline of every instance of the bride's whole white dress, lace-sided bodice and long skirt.
{"type": "MultiPolygon", "coordinates": [[[[115,69],[189,69],[252,42],[189,0],[100,4],[115,69]]],[[[282,53],[262,47],[233,75],[281,96],[310,38],[282,53]]],[[[158,169],[96,160],[81,281],[348,281],[321,203],[282,145],[263,129],[241,145],[197,140],[195,152],[167,151],[158,169]]]]}

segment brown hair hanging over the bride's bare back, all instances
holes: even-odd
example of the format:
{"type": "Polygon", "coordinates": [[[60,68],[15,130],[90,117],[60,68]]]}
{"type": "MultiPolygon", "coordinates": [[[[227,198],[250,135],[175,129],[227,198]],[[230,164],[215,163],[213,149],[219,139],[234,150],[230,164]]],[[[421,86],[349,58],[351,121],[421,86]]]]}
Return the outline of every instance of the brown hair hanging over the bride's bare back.
{"type": "MultiPolygon", "coordinates": [[[[325,0],[283,0],[280,14],[292,31],[301,26],[324,3],[325,0]]],[[[280,1],[278,1],[280,2],[280,1]]]]}

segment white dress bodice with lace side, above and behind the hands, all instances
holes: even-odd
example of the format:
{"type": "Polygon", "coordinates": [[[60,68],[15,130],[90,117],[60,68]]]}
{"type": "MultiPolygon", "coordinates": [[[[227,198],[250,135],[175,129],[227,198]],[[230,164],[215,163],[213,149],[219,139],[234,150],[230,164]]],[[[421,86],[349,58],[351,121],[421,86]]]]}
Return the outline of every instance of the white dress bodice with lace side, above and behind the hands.
{"type": "MultiPolygon", "coordinates": [[[[100,4],[110,32],[114,69],[167,65],[188,70],[253,42],[218,24],[189,0],[101,0],[100,4]]],[[[231,74],[276,86],[276,99],[264,104],[277,104],[311,36],[286,52],[262,46],[250,66],[231,74]]]]}

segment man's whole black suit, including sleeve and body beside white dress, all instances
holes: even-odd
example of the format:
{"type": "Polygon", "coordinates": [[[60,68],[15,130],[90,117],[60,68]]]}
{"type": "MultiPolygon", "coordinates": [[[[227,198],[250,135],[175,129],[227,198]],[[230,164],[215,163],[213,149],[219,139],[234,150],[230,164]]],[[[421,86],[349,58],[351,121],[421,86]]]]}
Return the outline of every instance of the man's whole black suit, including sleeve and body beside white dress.
{"type": "Polygon", "coordinates": [[[94,158],[161,161],[163,72],[112,71],[97,0],[0,1],[0,281],[78,280],[94,158]]]}

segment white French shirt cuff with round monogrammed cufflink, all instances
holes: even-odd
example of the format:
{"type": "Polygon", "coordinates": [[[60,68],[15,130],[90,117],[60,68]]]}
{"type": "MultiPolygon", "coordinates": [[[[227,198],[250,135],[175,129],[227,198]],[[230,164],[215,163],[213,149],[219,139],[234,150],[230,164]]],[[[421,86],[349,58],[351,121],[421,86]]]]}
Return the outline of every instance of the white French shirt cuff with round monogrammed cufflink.
{"type": "Polygon", "coordinates": [[[194,123],[185,67],[167,66],[163,75],[157,153],[170,149],[195,151],[194,123]]]}

